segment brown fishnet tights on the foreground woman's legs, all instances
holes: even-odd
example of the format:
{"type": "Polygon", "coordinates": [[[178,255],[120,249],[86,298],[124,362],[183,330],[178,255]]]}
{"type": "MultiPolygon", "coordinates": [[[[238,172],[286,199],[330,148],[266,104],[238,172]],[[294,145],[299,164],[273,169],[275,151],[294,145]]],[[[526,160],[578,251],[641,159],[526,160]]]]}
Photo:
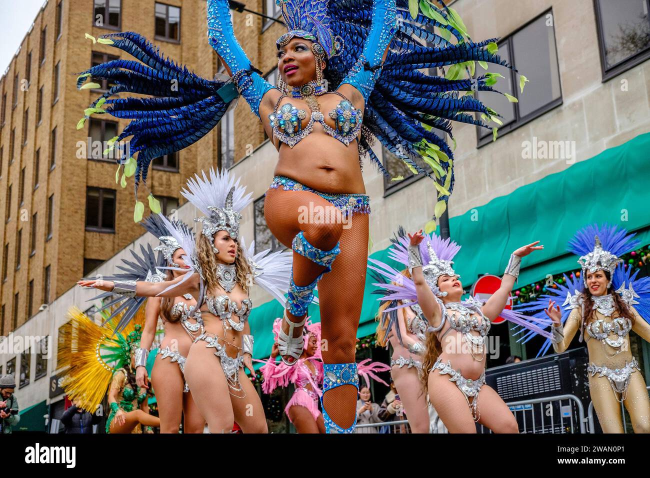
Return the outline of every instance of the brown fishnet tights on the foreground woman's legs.
{"type": "MultiPolygon", "coordinates": [[[[310,191],[268,189],[264,204],[266,224],[273,235],[291,247],[293,238],[302,231],[309,243],[321,250],[330,250],[340,241],[341,253],[333,261],[331,271],[318,282],[320,317],[322,322],[322,356],[326,364],[351,363],[355,359],[355,344],[368,259],[368,215],[354,213],[344,223],[341,212],[331,222],[301,220],[301,213],[317,206],[333,211],[334,206],[310,191]],[[305,209],[307,208],[307,209],[305,209]]],[[[324,267],[294,252],[293,274],[296,285],[311,283],[324,267]]],[[[289,320],[302,321],[287,312],[289,320]]],[[[288,327],[284,326],[285,332],[288,327]]],[[[302,328],[294,329],[294,336],[302,328]]],[[[344,385],[323,396],[323,406],[340,427],[348,428],[356,416],[357,389],[344,385]]]]}

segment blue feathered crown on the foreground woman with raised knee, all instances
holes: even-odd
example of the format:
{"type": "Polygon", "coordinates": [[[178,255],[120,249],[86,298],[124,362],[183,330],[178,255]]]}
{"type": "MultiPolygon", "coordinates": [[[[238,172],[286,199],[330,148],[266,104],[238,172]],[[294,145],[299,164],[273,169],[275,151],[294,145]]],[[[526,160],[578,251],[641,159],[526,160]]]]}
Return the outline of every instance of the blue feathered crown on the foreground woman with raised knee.
{"type": "Polygon", "coordinates": [[[298,36],[317,42],[328,59],[343,49],[343,38],[334,35],[327,15],[328,0],[276,0],[282,10],[287,33],[278,38],[279,48],[298,36]]]}

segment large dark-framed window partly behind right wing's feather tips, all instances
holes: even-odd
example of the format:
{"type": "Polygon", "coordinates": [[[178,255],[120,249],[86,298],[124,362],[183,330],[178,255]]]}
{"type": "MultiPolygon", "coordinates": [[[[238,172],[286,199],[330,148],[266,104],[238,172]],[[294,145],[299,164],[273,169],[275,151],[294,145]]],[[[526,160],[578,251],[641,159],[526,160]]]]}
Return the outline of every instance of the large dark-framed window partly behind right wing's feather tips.
{"type": "MultiPolygon", "coordinates": [[[[510,103],[508,99],[493,92],[476,92],[476,98],[487,107],[497,111],[503,118],[499,135],[526,124],[562,103],[558,55],[555,46],[555,30],[547,26],[552,11],[548,10],[535,20],[499,42],[499,56],[510,62],[519,72],[526,72],[528,78],[535,78],[526,84],[526,92],[521,95],[519,79],[512,70],[490,64],[490,71],[500,73],[497,88],[519,101],[510,103]],[[521,98],[519,98],[521,96],[521,98]]],[[[480,66],[476,70],[481,70],[480,66]]],[[[480,74],[480,71],[477,72],[480,74]]],[[[492,141],[492,131],[477,127],[478,146],[492,141]]]]}

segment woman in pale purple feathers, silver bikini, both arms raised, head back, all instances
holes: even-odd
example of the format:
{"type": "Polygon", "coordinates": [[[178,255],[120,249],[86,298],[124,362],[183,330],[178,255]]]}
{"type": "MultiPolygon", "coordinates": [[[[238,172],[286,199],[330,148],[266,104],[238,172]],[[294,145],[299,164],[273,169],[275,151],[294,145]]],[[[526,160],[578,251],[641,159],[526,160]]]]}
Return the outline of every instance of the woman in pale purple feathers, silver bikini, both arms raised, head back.
{"type": "Polygon", "coordinates": [[[381,300],[397,303],[385,310],[398,310],[417,304],[428,321],[428,336],[421,378],[424,393],[452,433],[474,433],[475,422],[494,432],[519,430],[512,412],[497,393],[485,383],[486,338],[491,320],[501,315],[516,325],[550,336],[541,326],[520,313],[504,310],[510,291],[519,276],[521,258],[542,249],[539,241],[523,246],[510,256],[501,286],[486,302],[470,297],[461,302],[463,286],[452,265],[460,246],[422,230],[400,237],[389,250],[391,259],[408,266],[409,279],[393,267],[369,259],[370,269],[387,284],[375,284],[387,293],[381,300]],[[455,385],[454,385],[455,384],[455,385]]]}

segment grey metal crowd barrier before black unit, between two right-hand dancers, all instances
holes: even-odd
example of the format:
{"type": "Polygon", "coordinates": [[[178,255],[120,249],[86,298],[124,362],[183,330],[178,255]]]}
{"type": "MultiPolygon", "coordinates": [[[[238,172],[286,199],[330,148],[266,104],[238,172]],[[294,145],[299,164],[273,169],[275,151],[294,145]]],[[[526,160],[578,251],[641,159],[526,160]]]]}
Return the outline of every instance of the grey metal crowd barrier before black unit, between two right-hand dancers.
{"type": "MultiPolygon", "coordinates": [[[[580,433],[586,432],[587,419],[584,416],[584,407],[578,397],[571,394],[555,395],[540,399],[521,400],[506,403],[512,410],[520,433],[580,433]],[[567,404],[565,405],[564,402],[567,404]],[[536,407],[537,405],[537,407],[536,407]],[[573,406],[577,410],[577,419],[574,417],[573,406]],[[556,410],[559,410],[556,416],[556,410]],[[559,424],[557,423],[559,419],[559,424]],[[521,429],[523,426],[523,429],[521,429]]],[[[437,417],[434,421],[434,433],[438,433],[437,417]]],[[[480,432],[485,433],[486,428],[479,425],[480,432]]],[[[593,427],[591,427],[593,429],[593,427]]],[[[445,430],[445,432],[447,432],[445,430]]],[[[491,433],[491,431],[487,430],[491,433]]]]}

